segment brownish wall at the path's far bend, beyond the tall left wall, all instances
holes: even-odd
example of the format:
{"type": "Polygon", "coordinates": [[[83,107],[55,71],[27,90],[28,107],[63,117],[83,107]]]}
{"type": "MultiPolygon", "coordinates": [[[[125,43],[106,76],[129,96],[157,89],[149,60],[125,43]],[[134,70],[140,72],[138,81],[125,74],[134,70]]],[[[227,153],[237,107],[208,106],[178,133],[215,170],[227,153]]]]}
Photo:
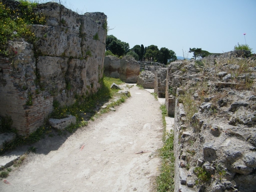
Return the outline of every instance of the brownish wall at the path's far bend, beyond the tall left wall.
{"type": "Polygon", "coordinates": [[[108,77],[120,78],[125,83],[137,83],[140,74],[140,65],[131,58],[116,58],[106,56],[104,74],[108,77]]]}

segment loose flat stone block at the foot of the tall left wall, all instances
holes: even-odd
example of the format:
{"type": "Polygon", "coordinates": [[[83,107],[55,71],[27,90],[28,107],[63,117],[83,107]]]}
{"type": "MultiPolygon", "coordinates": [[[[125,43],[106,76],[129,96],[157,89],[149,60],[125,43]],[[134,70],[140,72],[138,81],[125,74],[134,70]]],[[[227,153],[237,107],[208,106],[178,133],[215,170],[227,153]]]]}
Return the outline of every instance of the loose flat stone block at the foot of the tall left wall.
{"type": "Polygon", "coordinates": [[[67,126],[72,124],[76,124],[76,117],[75,116],[68,116],[67,118],[64,119],[49,119],[49,123],[53,128],[63,130],[67,126]]]}

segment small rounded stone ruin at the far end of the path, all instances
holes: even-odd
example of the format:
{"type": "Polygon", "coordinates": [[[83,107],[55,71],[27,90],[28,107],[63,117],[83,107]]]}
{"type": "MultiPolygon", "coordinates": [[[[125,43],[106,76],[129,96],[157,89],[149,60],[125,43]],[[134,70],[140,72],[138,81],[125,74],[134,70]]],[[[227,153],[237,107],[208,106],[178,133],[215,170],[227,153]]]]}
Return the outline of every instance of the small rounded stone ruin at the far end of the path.
{"type": "Polygon", "coordinates": [[[143,71],[138,76],[138,85],[143,86],[144,89],[154,89],[155,75],[151,71],[143,71]]]}

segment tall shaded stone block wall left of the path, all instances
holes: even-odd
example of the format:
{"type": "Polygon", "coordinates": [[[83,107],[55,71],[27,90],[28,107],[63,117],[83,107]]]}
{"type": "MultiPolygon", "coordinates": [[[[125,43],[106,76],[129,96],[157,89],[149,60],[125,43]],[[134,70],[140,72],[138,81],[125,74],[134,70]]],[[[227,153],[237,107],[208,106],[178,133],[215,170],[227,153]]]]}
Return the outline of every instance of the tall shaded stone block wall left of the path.
{"type": "Polygon", "coordinates": [[[103,77],[106,15],[78,15],[58,3],[36,9],[47,23],[32,25],[34,46],[9,41],[13,57],[0,58],[0,115],[11,116],[22,135],[43,124],[53,100],[73,104],[75,96],[96,93],[103,77]]]}

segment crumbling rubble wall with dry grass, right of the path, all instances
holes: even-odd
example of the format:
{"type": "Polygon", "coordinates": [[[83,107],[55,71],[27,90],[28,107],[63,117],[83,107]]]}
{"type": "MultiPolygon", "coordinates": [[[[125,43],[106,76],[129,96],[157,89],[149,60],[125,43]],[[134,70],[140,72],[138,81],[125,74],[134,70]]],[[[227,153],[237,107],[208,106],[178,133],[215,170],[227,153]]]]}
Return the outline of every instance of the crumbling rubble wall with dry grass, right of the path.
{"type": "Polygon", "coordinates": [[[233,52],[168,66],[175,98],[175,191],[256,188],[256,59],[233,52]]]}

